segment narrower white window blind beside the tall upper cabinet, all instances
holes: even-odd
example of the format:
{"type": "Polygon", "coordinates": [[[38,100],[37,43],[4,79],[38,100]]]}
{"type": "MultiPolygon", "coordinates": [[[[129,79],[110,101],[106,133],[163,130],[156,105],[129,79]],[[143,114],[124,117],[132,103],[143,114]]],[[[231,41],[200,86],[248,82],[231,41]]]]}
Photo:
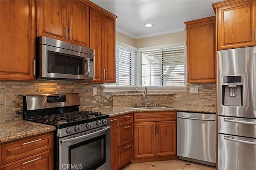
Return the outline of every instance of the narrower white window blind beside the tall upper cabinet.
{"type": "Polygon", "coordinates": [[[135,85],[136,51],[116,44],[116,84],[135,85]]]}

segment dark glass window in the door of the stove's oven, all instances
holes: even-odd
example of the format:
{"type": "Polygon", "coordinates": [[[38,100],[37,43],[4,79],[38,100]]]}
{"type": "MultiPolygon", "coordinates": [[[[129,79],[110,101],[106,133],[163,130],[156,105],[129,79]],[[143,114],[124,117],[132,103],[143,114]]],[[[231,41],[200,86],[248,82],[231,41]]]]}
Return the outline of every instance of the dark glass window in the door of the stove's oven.
{"type": "Polygon", "coordinates": [[[68,147],[70,170],[95,170],[106,162],[106,134],[68,147]]]}

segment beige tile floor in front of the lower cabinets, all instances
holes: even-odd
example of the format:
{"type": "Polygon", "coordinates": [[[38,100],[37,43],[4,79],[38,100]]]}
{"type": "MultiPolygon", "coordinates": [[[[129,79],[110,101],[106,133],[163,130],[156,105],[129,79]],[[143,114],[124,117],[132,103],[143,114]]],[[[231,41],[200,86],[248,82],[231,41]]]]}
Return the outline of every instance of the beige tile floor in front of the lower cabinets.
{"type": "Polygon", "coordinates": [[[123,170],[215,170],[214,166],[184,160],[164,160],[130,164],[123,170]]]}

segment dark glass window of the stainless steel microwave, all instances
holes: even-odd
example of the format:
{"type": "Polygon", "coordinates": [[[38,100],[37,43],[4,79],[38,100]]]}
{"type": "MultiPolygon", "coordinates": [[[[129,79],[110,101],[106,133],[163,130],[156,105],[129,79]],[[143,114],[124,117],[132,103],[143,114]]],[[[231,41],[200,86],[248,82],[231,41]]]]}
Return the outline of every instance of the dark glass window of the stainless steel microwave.
{"type": "Polygon", "coordinates": [[[84,75],[85,58],[48,51],[48,73],[84,75]]]}

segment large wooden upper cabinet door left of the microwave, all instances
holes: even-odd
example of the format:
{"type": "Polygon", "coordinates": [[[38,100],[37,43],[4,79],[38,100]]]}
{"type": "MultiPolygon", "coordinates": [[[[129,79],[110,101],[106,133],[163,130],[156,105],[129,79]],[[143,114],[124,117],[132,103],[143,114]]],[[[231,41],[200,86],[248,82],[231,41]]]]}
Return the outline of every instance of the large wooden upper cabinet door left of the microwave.
{"type": "Polygon", "coordinates": [[[0,79],[34,80],[35,1],[0,1],[0,79]]]}

